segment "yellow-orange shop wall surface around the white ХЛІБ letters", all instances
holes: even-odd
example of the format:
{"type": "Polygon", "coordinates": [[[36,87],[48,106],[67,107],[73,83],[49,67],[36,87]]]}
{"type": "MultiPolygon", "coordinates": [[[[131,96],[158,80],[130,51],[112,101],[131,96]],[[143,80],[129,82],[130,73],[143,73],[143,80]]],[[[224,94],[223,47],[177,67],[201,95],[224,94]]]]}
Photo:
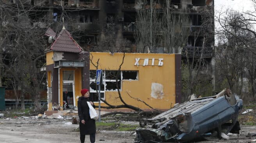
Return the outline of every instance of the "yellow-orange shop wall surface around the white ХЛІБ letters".
{"type": "MultiPolygon", "coordinates": [[[[99,60],[98,69],[102,70],[118,70],[119,65],[123,60],[123,53],[102,53],[102,52],[90,52],[90,59],[96,64],[99,60]]],[[[90,63],[90,70],[96,70],[96,68],[90,63]]],[[[140,54],[140,53],[126,53],[124,57],[124,63],[121,66],[121,70],[136,70],[139,71],[139,80],[123,80],[121,95],[124,101],[128,104],[137,106],[141,109],[149,109],[144,103],[132,99],[139,98],[148,105],[157,109],[169,109],[175,104],[175,55],[174,54],[140,54]],[[135,66],[135,58],[140,58],[139,66],[135,66]],[[144,59],[149,58],[149,65],[142,66],[144,59]],[[155,58],[155,66],[151,66],[151,59],[155,58]],[[163,66],[158,66],[158,59],[164,58],[163,66]],[[151,97],[151,85],[152,83],[158,83],[163,85],[163,98],[155,99],[151,97]]],[[[121,101],[118,97],[117,91],[105,91],[105,100],[112,105],[121,105],[121,101]]],[[[95,103],[98,105],[98,103],[95,103]]],[[[101,103],[101,106],[106,106],[101,103]]]]}

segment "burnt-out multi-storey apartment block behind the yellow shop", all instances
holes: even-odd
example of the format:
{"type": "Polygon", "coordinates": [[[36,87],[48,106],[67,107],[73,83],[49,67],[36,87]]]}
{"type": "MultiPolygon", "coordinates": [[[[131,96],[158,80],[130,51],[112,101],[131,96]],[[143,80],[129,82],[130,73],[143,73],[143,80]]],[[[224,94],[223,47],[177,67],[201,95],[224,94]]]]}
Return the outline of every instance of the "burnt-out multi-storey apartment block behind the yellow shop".
{"type": "MultiPolygon", "coordinates": [[[[44,16],[45,12],[48,12],[50,27],[56,30],[56,33],[59,33],[62,29],[63,18],[66,29],[72,33],[75,40],[85,51],[108,52],[97,45],[106,36],[106,29],[114,26],[116,41],[126,39],[128,42],[124,44],[125,50],[133,53],[149,52],[144,50],[145,47],[138,44],[135,33],[137,32],[138,9],[141,9],[142,6],[150,7],[150,2],[153,2],[156,12],[163,13],[168,8],[177,14],[185,13],[189,17],[190,23],[186,26],[189,27],[191,33],[183,47],[182,57],[184,59],[186,58],[185,51],[188,52],[189,57],[200,57],[203,52],[203,57],[208,61],[211,61],[214,55],[214,38],[208,40],[204,44],[204,49],[202,49],[203,36],[199,35],[195,38],[193,33],[201,28],[204,20],[207,20],[203,18],[203,15],[209,12],[213,13],[213,0],[3,0],[3,2],[23,2],[25,6],[36,7],[36,10],[38,10],[37,16],[40,16],[40,14],[44,16]],[[196,47],[195,52],[194,47],[196,47]]],[[[38,25],[44,27],[49,24],[41,22],[38,25]]],[[[209,31],[214,31],[213,24],[209,31]]],[[[162,50],[164,45],[159,44],[158,47],[158,50],[150,52],[170,53],[162,50]]]]}

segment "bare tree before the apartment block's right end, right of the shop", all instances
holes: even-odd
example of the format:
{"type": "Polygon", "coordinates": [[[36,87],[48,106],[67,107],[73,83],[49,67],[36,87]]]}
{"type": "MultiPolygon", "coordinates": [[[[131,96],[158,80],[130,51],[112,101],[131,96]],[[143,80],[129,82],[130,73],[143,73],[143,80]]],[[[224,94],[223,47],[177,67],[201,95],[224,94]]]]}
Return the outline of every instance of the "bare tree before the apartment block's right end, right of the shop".
{"type": "Polygon", "coordinates": [[[187,85],[187,96],[196,91],[197,85],[204,85],[205,89],[206,83],[211,80],[209,63],[206,61],[206,58],[214,56],[212,48],[214,42],[213,8],[209,7],[208,11],[201,16],[203,20],[199,29],[190,33],[194,39],[192,47],[183,50],[185,52],[188,72],[187,83],[185,83],[187,85]],[[200,47],[197,47],[196,43],[200,43],[200,47]]]}

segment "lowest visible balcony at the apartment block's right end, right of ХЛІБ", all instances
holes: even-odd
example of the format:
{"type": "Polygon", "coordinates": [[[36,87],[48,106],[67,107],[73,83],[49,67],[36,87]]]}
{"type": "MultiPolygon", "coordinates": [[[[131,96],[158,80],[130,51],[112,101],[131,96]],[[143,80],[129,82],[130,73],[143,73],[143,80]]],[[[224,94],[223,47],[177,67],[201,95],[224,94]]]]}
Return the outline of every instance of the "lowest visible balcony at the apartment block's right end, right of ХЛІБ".
{"type": "Polygon", "coordinates": [[[182,57],[187,57],[188,58],[199,58],[201,57],[201,54],[203,52],[203,58],[212,58],[214,56],[214,48],[213,47],[193,47],[193,46],[187,46],[183,48],[182,50],[182,57]],[[186,56],[187,53],[187,56],[186,56]]]}

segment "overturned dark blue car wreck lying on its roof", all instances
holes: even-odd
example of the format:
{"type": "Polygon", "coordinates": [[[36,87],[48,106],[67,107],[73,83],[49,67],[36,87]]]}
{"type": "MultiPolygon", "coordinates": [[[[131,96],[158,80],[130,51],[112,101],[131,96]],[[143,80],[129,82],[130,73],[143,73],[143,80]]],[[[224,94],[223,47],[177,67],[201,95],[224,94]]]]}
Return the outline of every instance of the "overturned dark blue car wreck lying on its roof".
{"type": "Polygon", "coordinates": [[[136,129],[137,136],[133,142],[187,142],[201,138],[221,138],[221,133],[239,134],[237,120],[242,107],[242,99],[226,89],[215,96],[192,96],[190,101],[176,104],[174,108],[141,122],[151,127],[136,129]]]}

